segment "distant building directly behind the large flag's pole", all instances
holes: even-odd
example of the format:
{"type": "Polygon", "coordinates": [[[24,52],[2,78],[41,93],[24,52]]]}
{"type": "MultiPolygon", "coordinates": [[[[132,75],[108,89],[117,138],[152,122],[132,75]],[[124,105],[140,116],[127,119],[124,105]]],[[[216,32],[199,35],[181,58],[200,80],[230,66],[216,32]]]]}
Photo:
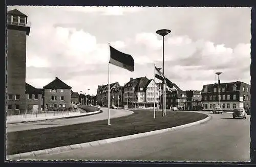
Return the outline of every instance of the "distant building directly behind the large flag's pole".
{"type": "MultiPolygon", "coordinates": [[[[111,95],[111,91],[113,91],[112,89],[117,88],[117,87],[120,87],[118,82],[110,84],[110,95],[111,95]]],[[[113,94],[110,97],[113,97],[113,94]]],[[[108,104],[108,99],[109,99],[109,85],[100,85],[100,86],[98,86],[98,89],[97,89],[97,103],[98,103],[98,105],[103,106],[103,107],[108,107],[108,105],[109,105],[108,104]]]]}

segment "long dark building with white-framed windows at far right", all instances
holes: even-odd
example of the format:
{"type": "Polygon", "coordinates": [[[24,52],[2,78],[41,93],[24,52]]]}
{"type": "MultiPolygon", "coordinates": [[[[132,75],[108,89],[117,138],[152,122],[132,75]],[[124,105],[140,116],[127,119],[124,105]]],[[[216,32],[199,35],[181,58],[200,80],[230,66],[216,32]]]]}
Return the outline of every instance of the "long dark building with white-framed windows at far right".
{"type": "Polygon", "coordinates": [[[238,107],[250,108],[250,85],[241,81],[203,85],[202,105],[206,110],[212,110],[219,106],[220,87],[220,107],[223,110],[233,110],[238,107]],[[220,86],[219,86],[220,85],[220,86]]]}

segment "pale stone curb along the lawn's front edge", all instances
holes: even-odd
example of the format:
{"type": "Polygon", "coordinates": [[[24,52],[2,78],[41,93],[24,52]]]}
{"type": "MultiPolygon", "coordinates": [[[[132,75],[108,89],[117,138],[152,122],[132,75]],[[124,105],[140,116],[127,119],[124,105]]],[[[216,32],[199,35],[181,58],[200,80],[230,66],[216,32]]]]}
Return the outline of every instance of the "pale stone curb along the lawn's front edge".
{"type": "Polygon", "coordinates": [[[25,158],[28,158],[28,157],[30,159],[33,159],[31,157],[36,157],[38,155],[61,153],[61,152],[64,152],[64,151],[69,151],[69,150],[84,149],[84,148],[87,148],[87,147],[95,147],[95,146],[104,145],[104,144],[108,144],[108,143],[113,143],[113,142],[117,142],[117,141],[123,141],[123,140],[127,140],[127,139],[140,138],[140,137],[155,135],[155,134],[159,134],[159,133],[163,133],[163,132],[174,131],[174,130],[178,130],[178,129],[183,129],[183,128],[199,125],[199,124],[205,123],[209,120],[211,120],[211,116],[208,115],[203,120],[199,120],[199,121],[194,122],[194,123],[184,124],[184,125],[180,125],[180,126],[176,126],[176,127],[172,127],[172,128],[160,129],[160,130],[155,130],[155,131],[150,131],[150,132],[144,132],[144,133],[138,133],[138,134],[133,134],[133,135],[115,137],[115,138],[102,139],[102,140],[91,141],[91,142],[84,142],[82,144],[61,146],[61,147],[56,147],[56,148],[51,148],[51,149],[37,150],[37,151],[32,151],[32,152],[7,155],[6,159],[7,160],[19,160],[19,159],[25,159],[25,158]]]}

